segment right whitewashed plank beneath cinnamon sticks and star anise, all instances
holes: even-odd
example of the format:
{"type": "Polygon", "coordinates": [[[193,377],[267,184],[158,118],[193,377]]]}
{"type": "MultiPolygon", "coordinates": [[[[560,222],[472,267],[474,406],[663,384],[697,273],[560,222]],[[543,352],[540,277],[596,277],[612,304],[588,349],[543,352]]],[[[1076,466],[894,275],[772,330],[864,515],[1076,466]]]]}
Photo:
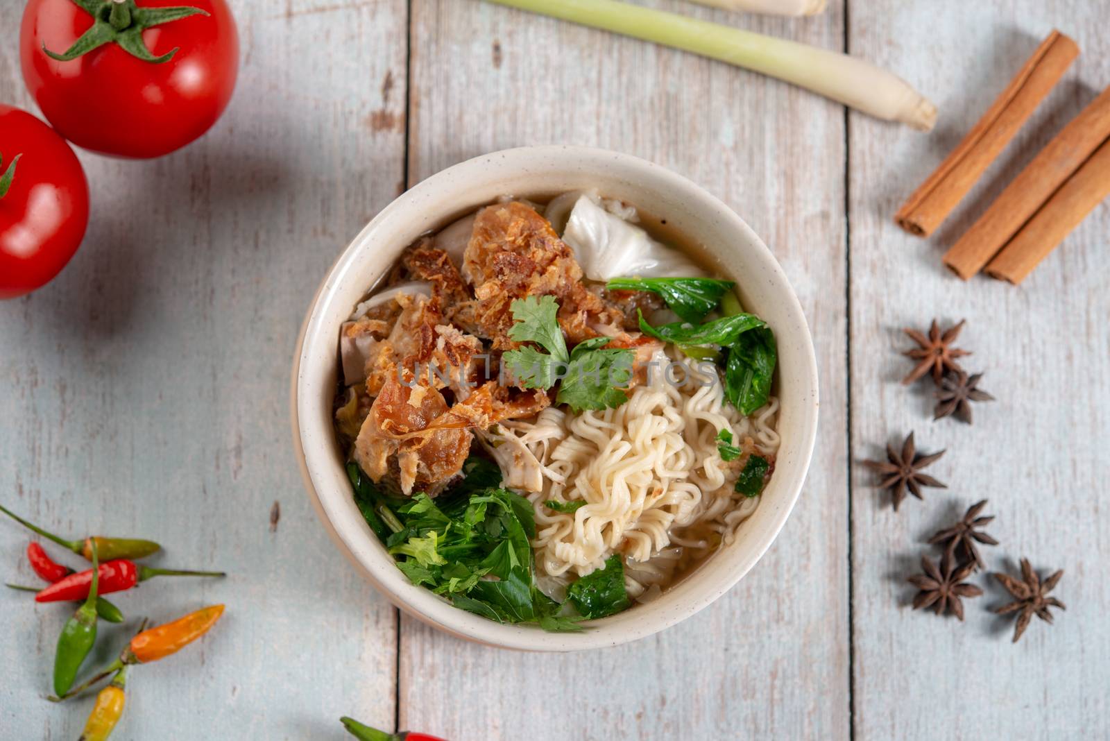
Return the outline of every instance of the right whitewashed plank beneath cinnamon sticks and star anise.
{"type": "MultiPolygon", "coordinates": [[[[851,50],[898,70],[934,97],[937,131],[922,136],[864,116],[850,119],[851,419],[855,458],[910,429],[922,449],[947,448],[932,470],[947,491],[930,491],[895,514],[854,476],[852,583],[855,728],[858,739],[1107,738],[1110,735],[1110,519],[1102,484],[1110,435],[1110,338],[1106,292],[1110,254],[1103,205],[1020,288],[962,283],[940,264],[961,234],[1020,168],[1110,80],[1110,42],[1099,3],[1032,0],[989,3],[896,0],[852,3],[851,50]],[[939,234],[922,241],[892,222],[906,195],[955,145],[1053,28],[1082,49],[1072,70],[1027,123],[939,234]],[[931,422],[928,383],[907,389],[904,326],[932,316],[966,317],[966,367],[985,370],[998,397],[973,427],[931,422]],[[967,625],[912,612],[924,539],[989,498],[990,570],[1015,571],[1027,556],[1067,606],[1049,628],[1035,620],[1017,646],[1012,625],[988,608],[1008,601],[987,577],[967,602],[967,625]],[[938,714],[939,713],[939,714],[938,714]]],[[[911,344],[911,343],[909,343],[911,344]]]]}

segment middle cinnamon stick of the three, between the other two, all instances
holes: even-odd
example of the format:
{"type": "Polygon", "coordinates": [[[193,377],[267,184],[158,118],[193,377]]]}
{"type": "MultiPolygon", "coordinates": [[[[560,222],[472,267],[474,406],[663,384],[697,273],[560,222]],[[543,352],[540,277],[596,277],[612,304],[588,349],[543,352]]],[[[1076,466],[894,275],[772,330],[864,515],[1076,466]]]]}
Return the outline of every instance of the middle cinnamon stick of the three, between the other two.
{"type": "Polygon", "coordinates": [[[1110,88],[1072,119],[1013,179],[945,254],[945,265],[965,281],[981,271],[1107,139],[1110,139],[1110,88]]]}

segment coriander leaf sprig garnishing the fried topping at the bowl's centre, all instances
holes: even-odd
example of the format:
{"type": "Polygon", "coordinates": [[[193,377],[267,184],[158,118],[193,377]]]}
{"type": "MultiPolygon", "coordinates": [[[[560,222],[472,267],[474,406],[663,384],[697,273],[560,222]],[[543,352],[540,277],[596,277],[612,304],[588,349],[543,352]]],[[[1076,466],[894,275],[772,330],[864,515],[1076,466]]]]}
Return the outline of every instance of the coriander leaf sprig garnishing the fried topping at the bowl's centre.
{"type": "Polygon", "coordinates": [[[554,296],[528,296],[511,304],[516,323],[508,336],[517,342],[534,342],[534,347],[512,349],[502,356],[508,374],[525,388],[551,388],[559,383],[556,402],[575,412],[617,407],[628,400],[619,386],[632,378],[636,355],[626,348],[603,347],[608,337],[593,337],[578,343],[568,353],[558,325],[558,304],[554,296]]]}

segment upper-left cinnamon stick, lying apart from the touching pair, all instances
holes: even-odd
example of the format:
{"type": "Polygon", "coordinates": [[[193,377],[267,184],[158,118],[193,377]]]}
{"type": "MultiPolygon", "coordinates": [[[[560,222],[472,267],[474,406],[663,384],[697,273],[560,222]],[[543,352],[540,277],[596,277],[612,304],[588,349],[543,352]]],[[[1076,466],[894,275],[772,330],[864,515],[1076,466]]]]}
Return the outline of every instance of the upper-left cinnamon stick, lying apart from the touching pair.
{"type": "Polygon", "coordinates": [[[910,234],[932,234],[1078,55],[1074,41],[1052,31],[963,141],[902,204],[895,222],[910,234]]]}

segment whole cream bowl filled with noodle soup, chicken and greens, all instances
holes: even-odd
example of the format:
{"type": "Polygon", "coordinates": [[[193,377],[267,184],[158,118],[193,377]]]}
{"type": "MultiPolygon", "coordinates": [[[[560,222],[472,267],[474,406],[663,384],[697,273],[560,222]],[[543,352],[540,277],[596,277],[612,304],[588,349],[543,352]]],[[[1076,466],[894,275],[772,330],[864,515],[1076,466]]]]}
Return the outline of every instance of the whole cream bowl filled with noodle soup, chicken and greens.
{"type": "Polygon", "coordinates": [[[747,224],[573,146],[480,156],[386,206],[321,284],[292,384],[340,551],[431,626],[543,651],[649,636],[743,578],[801,490],[817,406],[801,307],[747,224]]]}

